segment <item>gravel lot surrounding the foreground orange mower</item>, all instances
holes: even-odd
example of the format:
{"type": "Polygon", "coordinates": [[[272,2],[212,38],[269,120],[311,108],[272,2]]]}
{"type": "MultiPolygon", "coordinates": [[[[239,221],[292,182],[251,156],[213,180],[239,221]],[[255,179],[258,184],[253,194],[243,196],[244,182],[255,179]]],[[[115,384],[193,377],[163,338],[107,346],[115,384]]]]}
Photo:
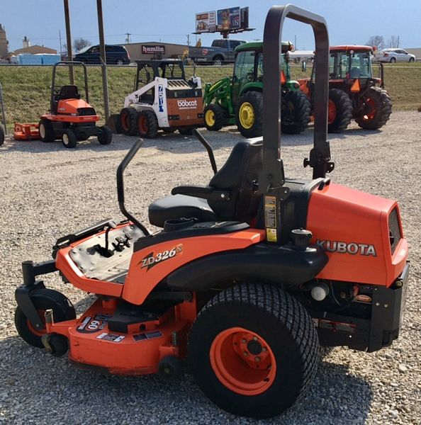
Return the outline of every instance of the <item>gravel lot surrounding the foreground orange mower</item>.
{"type": "MultiPolygon", "coordinates": [[[[361,353],[335,348],[323,359],[305,397],[284,416],[260,424],[421,423],[421,123],[420,114],[393,113],[383,131],[352,125],[330,135],[336,169],[346,186],[396,198],[410,244],[411,276],[400,339],[391,348],[361,353]]],[[[219,165],[241,140],[234,128],[204,132],[219,165]]],[[[0,148],[0,422],[7,424],[254,424],[227,414],[204,397],[191,376],[167,382],[157,376],[122,378],[72,368],[28,346],[13,325],[14,290],[20,263],[50,258],[60,235],[106,217],[120,217],[115,171],[133,137],[113,145],[82,142],[67,150],[60,142],[6,140],[0,148]]],[[[302,168],[313,131],[283,137],[287,176],[310,178],[302,168]]],[[[129,206],[147,222],[147,205],[180,183],[211,178],[206,152],[193,137],[161,135],[146,140],[126,172],[129,206]]],[[[57,274],[57,273],[55,273],[57,274]]],[[[89,298],[47,276],[82,312],[89,298]]]]}

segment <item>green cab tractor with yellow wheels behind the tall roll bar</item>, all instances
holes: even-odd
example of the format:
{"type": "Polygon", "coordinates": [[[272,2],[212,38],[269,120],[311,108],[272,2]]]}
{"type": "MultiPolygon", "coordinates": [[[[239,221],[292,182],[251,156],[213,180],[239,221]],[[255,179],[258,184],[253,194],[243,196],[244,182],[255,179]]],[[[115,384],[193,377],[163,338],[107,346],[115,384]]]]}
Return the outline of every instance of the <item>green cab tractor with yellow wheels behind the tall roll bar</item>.
{"type": "MultiPolygon", "coordinates": [[[[291,79],[289,51],[292,48],[291,42],[282,42],[281,129],[296,134],[307,127],[311,106],[298,81],[291,79]]],[[[218,131],[224,125],[236,124],[244,137],[258,137],[263,133],[263,42],[239,45],[235,55],[232,77],[205,86],[205,125],[208,130],[218,131]]]]}

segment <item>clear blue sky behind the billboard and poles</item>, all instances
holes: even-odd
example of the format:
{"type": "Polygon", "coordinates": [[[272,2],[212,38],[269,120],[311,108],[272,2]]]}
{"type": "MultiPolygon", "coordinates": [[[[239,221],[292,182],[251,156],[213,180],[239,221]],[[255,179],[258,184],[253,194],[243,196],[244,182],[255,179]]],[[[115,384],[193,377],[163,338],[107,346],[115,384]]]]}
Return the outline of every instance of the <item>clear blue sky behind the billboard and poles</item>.
{"type": "MultiPolygon", "coordinates": [[[[292,1],[292,0],[291,0],[292,1]]],[[[274,0],[103,0],[103,25],[107,44],[130,42],[174,42],[195,44],[195,13],[220,8],[249,6],[250,32],[231,35],[240,40],[261,40],[264,20],[274,0]]],[[[281,4],[280,2],[278,4],[281,4]]],[[[318,13],[327,21],[330,45],[366,44],[372,35],[386,42],[399,37],[403,48],[421,47],[421,0],[297,0],[296,6],[318,13]]],[[[95,0],[69,0],[72,40],[85,38],[99,42],[95,0]]],[[[9,50],[22,47],[26,35],[31,45],[44,45],[60,52],[66,42],[62,0],[0,0],[0,23],[6,28],[9,50]]],[[[200,35],[203,46],[211,45],[219,33],[200,35]]],[[[314,47],[310,26],[286,20],[283,40],[296,41],[296,49],[314,47]]]]}

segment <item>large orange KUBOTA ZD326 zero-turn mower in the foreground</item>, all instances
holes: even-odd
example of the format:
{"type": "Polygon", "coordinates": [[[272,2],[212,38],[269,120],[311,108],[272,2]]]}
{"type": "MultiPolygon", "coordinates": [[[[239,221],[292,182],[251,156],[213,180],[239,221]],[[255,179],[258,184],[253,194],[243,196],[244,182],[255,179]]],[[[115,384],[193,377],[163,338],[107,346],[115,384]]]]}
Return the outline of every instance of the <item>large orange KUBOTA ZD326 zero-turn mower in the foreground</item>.
{"type": "MultiPolygon", "coordinates": [[[[376,351],[398,337],[409,266],[397,203],[332,183],[327,134],[329,40],[323,18],[274,6],[264,28],[264,137],[244,140],[206,187],[178,186],[150,205],[150,234],[125,209],[61,237],[54,259],[23,263],[16,327],[25,341],[108,373],[174,375],[188,359],[203,392],[235,414],[263,418],[308,388],[319,344],[376,351]],[[286,179],[280,155],[280,30],[313,26],[312,180],[286,179]],[[35,277],[59,271],[96,294],[76,317],[35,277]]],[[[147,391],[147,389],[145,389],[147,391]]]]}

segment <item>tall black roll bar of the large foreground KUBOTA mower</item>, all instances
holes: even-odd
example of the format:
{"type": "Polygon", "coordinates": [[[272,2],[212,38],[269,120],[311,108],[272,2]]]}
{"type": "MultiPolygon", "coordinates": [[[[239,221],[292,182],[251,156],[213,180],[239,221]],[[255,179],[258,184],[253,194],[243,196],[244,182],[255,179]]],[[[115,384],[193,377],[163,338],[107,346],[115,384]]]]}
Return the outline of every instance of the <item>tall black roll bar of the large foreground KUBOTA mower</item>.
{"type": "Polygon", "coordinates": [[[305,165],[313,167],[313,179],[332,171],[327,136],[329,35],[325,19],[291,4],[272,6],[266,17],[263,37],[263,169],[259,177],[263,192],[285,183],[281,159],[281,32],[285,18],[308,23],[315,35],[315,126],[314,147],[305,165]]]}

